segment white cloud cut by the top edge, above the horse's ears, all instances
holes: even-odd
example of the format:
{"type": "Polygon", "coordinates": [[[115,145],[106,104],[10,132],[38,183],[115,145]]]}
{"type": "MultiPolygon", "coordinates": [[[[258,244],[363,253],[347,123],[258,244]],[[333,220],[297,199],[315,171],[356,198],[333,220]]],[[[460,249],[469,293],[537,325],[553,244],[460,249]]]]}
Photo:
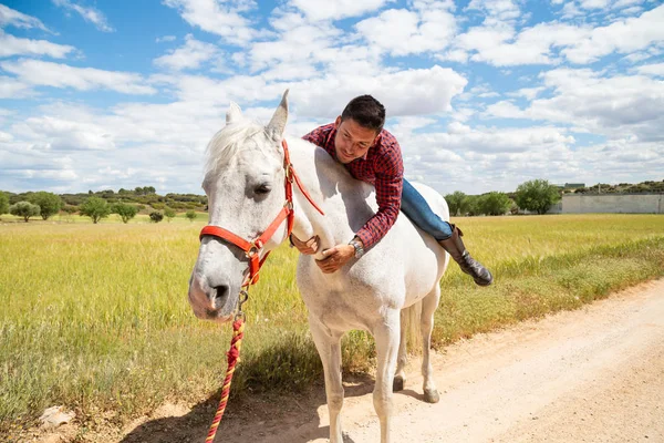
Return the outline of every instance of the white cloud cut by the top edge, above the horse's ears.
{"type": "Polygon", "coordinates": [[[177,9],[183,19],[193,27],[220,35],[226,41],[245,45],[264,33],[251,27],[249,20],[240,14],[255,7],[253,1],[230,0],[164,0],[164,3],[177,9]]]}

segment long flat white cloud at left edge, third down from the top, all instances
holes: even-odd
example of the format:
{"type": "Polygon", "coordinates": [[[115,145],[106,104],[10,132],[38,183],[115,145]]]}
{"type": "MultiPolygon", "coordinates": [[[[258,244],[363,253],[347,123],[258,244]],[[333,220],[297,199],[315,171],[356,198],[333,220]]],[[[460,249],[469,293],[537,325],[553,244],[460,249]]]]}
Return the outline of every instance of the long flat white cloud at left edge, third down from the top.
{"type": "Polygon", "coordinates": [[[73,68],[40,60],[18,60],[0,63],[19,81],[32,85],[73,87],[80,91],[107,89],[125,94],[154,94],[141,75],[129,72],[103,71],[94,68],[73,68]]]}

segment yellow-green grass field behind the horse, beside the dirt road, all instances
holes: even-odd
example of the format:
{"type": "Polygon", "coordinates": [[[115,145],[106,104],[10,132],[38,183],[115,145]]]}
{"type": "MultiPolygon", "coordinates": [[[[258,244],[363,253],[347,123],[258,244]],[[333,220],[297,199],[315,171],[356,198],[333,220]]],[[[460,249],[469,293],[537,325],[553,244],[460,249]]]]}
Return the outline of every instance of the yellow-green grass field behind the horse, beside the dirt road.
{"type": "MultiPolygon", "coordinates": [[[[187,302],[204,217],[74,219],[0,223],[0,435],[55,404],[75,410],[85,426],[98,424],[98,412],[120,424],[220,388],[230,327],[196,319],[187,302]]],[[[438,348],[664,275],[663,216],[455,222],[496,285],[478,288],[450,266],[436,315],[438,348]]],[[[232,395],[300,390],[322,379],[295,260],[297,251],[281,247],[251,289],[232,395]]],[[[371,371],[372,339],[350,333],[343,357],[345,371],[371,371]]]]}

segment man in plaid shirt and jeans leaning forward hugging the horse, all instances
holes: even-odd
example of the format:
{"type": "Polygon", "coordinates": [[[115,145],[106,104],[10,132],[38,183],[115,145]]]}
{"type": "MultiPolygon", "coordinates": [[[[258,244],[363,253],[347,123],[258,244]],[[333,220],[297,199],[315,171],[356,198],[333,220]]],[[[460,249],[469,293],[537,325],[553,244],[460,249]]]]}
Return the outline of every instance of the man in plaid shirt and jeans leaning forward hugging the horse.
{"type": "MultiPolygon", "coordinates": [[[[355,237],[347,245],[324,250],[325,258],[317,260],[318,266],[330,274],[352,257],[361,258],[387,234],[401,209],[416,226],[434,236],[477,285],[490,285],[494,281],[491,272],[470,257],[461,241],[463,233],[434,214],[424,197],[404,179],[401,147],[383,128],[384,124],[385,107],[371,95],[361,95],[351,100],[334,123],[302,137],[325,150],[356,179],[374,185],[378,204],[378,212],[355,237]]],[[[293,235],[291,241],[302,254],[315,254],[319,247],[318,237],[303,241],[293,235]]]]}

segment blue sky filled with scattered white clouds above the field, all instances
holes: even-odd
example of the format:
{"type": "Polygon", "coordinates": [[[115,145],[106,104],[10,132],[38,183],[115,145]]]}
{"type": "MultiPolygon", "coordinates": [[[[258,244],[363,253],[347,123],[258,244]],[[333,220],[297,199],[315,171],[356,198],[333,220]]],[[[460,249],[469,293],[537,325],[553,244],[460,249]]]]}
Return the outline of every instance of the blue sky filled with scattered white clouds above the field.
{"type": "Polygon", "coordinates": [[[664,179],[662,0],[0,0],[0,189],[203,194],[229,102],[354,96],[442,194],[664,179]]]}

